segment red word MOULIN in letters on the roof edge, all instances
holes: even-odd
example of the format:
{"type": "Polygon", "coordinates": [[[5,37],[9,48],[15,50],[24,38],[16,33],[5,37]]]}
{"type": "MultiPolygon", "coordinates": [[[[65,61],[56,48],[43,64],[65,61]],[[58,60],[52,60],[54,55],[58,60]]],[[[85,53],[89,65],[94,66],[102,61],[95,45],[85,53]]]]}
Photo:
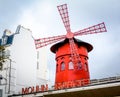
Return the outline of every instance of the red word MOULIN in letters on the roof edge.
{"type": "Polygon", "coordinates": [[[22,94],[30,94],[30,93],[44,92],[44,91],[48,91],[48,84],[22,88],[22,94]]]}

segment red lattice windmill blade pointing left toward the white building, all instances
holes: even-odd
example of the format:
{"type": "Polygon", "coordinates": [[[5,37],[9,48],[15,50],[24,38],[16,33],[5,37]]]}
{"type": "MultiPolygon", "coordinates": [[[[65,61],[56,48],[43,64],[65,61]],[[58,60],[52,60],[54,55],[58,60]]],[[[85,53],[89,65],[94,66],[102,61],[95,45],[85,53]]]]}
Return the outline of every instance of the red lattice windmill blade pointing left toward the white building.
{"type": "Polygon", "coordinates": [[[39,38],[35,39],[35,46],[36,49],[47,46],[49,44],[55,43],[57,41],[63,40],[66,38],[66,35],[59,35],[59,36],[53,36],[53,37],[47,37],[47,38],[39,38]]]}

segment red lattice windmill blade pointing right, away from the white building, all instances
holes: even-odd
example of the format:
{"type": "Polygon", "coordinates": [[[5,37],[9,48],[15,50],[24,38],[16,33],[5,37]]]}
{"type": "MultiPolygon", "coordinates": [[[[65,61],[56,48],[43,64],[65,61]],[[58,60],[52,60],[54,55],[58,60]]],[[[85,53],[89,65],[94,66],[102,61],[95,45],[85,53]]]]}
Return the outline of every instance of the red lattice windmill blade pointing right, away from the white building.
{"type": "Polygon", "coordinates": [[[104,22],[74,33],[74,36],[107,32],[104,22]]]}

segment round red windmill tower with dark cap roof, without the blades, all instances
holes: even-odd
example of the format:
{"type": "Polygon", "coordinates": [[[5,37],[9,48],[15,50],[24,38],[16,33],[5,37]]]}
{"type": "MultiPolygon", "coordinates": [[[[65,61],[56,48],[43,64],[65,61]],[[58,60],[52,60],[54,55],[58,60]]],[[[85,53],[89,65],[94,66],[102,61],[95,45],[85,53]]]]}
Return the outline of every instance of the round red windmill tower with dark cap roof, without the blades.
{"type": "Polygon", "coordinates": [[[71,53],[71,46],[67,38],[51,47],[51,51],[56,54],[56,89],[82,86],[89,83],[88,52],[93,47],[81,40],[75,38],[73,40],[77,59],[74,59],[71,53]]]}

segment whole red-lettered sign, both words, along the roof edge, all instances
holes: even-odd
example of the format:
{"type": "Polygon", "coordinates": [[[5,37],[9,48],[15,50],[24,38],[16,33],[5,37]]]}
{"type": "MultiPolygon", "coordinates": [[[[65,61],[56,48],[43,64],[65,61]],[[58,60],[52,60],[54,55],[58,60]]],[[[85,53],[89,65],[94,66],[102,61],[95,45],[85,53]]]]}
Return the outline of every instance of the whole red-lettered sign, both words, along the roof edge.
{"type": "MultiPolygon", "coordinates": [[[[83,80],[74,80],[63,83],[56,83],[54,86],[54,90],[81,87],[84,85],[88,85],[89,81],[90,81],[89,79],[83,79],[83,80]]],[[[45,92],[45,91],[48,91],[48,84],[22,88],[22,94],[30,94],[30,93],[45,92]]]]}

